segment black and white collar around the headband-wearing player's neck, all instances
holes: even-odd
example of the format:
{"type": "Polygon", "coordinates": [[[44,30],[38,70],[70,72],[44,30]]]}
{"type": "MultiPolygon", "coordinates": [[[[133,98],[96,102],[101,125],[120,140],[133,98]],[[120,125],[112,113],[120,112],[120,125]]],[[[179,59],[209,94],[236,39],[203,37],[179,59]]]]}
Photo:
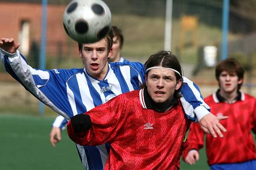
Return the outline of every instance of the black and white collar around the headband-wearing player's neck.
{"type": "Polygon", "coordinates": [[[147,88],[140,90],[140,104],[144,109],[154,109],[157,112],[166,112],[167,110],[171,109],[173,105],[178,104],[178,98],[176,96],[173,97],[172,101],[163,104],[156,104],[150,95],[148,94],[147,88]]]}

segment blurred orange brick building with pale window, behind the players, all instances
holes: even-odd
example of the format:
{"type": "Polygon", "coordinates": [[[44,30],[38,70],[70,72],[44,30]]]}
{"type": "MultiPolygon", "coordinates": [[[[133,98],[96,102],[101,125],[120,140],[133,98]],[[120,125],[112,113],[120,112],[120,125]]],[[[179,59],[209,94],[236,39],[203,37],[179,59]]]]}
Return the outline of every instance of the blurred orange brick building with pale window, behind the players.
{"type": "MultiPolygon", "coordinates": [[[[62,17],[67,0],[48,0],[47,6],[47,55],[58,53],[58,45],[65,51],[74,46],[64,31],[62,17]],[[64,46],[64,48],[63,48],[64,46]]],[[[21,43],[19,50],[28,55],[32,42],[41,41],[41,0],[1,0],[0,1],[0,37],[13,37],[21,43]]]]}

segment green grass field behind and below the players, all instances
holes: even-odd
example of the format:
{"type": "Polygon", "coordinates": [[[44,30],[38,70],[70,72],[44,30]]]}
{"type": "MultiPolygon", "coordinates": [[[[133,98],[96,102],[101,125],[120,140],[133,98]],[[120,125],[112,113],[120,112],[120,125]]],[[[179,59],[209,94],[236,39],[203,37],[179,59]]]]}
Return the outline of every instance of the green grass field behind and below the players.
{"type": "MultiPolygon", "coordinates": [[[[55,148],[49,142],[54,117],[0,114],[0,170],[82,170],[75,144],[66,130],[55,148]]],[[[205,151],[193,166],[181,170],[209,170],[205,151]]]]}

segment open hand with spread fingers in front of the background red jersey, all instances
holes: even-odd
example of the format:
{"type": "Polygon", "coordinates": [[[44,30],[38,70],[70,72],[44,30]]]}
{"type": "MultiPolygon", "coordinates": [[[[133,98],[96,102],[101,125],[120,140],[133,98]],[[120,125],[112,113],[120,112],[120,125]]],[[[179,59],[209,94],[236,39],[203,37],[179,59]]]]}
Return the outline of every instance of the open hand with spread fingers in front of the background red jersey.
{"type": "Polygon", "coordinates": [[[213,114],[208,114],[201,118],[199,124],[201,126],[201,129],[204,130],[205,133],[212,134],[214,138],[217,138],[217,133],[222,138],[223,134],[221,133],[221,131],[227,132],[227,130],[222,126],[222,124],[219,123],[219,121],[227,118],[228,116],[217,117],[213,114]]]}

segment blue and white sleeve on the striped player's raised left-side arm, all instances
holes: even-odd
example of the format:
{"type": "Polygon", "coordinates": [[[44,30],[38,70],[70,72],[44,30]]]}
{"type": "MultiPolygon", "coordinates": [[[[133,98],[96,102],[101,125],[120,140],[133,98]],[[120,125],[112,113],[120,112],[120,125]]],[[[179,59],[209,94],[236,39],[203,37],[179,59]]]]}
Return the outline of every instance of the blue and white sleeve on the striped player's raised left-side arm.
{"type": "Polygon", "coordinates": [[[71,110],[70,104],[67,99],[67,92],[64,90],[66,87],[63,87],[66,79],[59,77],[58,70],[33,69],[18,50],[16,53],[10,54],[0,49],[0,60],[6,71],[32,95],[67,120],[73,116],[72,112],[69,111],[71,110]]]}

